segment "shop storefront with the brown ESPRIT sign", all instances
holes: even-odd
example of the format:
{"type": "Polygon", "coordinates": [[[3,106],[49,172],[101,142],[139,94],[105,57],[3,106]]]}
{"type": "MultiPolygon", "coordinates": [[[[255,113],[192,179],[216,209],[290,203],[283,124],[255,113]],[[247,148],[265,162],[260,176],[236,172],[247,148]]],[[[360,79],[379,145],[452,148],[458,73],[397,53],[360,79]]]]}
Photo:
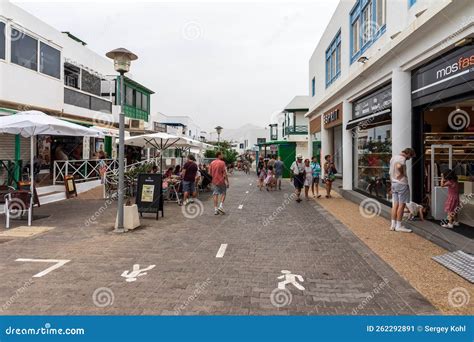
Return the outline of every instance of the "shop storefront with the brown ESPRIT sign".
{"type": "MultiPolygon", "coordinates": [[[[331,145],[329,151],[332,151],[338,176],[342,176],[342,116],[342,103],[323,114],[324,129],[328,133],[331,145]]],[[[322,156],[322,162],[324,163],[324,156],[322,156]]]]}

